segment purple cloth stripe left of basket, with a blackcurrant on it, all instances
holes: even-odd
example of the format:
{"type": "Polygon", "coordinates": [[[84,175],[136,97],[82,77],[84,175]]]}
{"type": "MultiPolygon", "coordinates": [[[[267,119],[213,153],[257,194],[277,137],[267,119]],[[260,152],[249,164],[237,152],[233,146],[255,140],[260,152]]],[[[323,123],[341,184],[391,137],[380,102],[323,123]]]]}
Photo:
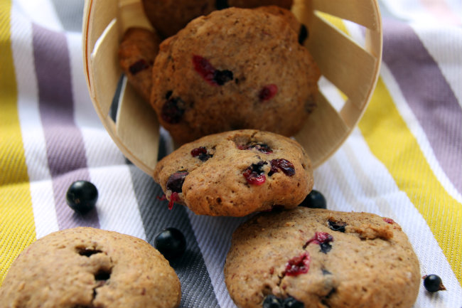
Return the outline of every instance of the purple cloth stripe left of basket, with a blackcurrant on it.
{"type": "Polygon", "coordinates": [[[60,229],[99,228],[96,210],[82,217],[72,211],[65,193],[72,181],[89,180],[85,144],[75,125],[68,43],[63,33],[33,24],[33,57],[38,82],[38,108],[45,135],[48,168],[53,179],[60,229]]]}

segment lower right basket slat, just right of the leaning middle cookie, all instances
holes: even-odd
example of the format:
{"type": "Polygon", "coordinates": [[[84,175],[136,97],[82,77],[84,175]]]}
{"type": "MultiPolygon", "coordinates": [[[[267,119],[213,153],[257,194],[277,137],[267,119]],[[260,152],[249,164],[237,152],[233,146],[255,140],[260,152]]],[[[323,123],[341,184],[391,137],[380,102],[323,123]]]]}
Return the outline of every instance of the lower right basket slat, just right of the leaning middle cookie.
{"type": "Polygon", "coordinates": [[[350,127],[321,92],[316,95],[316,102],[318,107],[295,136],[310,157],[313,168],[331,156],[350,132],[350,127]]]}

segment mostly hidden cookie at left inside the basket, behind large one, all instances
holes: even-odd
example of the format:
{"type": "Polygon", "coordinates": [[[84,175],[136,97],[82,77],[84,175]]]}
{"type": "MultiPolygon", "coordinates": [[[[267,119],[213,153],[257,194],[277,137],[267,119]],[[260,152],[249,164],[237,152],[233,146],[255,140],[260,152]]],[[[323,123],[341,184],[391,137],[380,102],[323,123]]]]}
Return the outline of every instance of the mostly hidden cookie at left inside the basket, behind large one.
{"type": "Polygon", "coordinates": [[[161,38],[146,28],[128,28],[119,44],[119,65],[128,82],[149,102],[152,66],[159,52],[161,38]]]}

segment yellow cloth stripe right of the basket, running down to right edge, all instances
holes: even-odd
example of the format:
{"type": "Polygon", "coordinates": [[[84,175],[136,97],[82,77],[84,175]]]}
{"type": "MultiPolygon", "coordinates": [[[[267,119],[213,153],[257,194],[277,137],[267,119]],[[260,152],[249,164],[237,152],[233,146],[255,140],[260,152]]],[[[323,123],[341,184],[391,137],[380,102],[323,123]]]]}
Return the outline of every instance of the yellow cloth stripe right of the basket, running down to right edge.
{"type": "Polygon", "coordinates": [[[358,126],[371,152],[426,220],[462,284],[462,204],[436,179],[382,78],[358,126]]]}

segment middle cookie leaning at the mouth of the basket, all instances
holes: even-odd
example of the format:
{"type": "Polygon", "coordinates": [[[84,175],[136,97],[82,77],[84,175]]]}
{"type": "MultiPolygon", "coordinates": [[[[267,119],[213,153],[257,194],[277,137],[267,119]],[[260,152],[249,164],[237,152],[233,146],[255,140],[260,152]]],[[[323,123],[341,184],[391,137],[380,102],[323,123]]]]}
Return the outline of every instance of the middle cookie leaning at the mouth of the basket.
{"type": "Polygon", "coordinates": [[[243,129],[200,138],[164,157],[154,180],[166,198],[208,216],[294,208],[313,188],[311,161],[292,139],[243,129]]]}

